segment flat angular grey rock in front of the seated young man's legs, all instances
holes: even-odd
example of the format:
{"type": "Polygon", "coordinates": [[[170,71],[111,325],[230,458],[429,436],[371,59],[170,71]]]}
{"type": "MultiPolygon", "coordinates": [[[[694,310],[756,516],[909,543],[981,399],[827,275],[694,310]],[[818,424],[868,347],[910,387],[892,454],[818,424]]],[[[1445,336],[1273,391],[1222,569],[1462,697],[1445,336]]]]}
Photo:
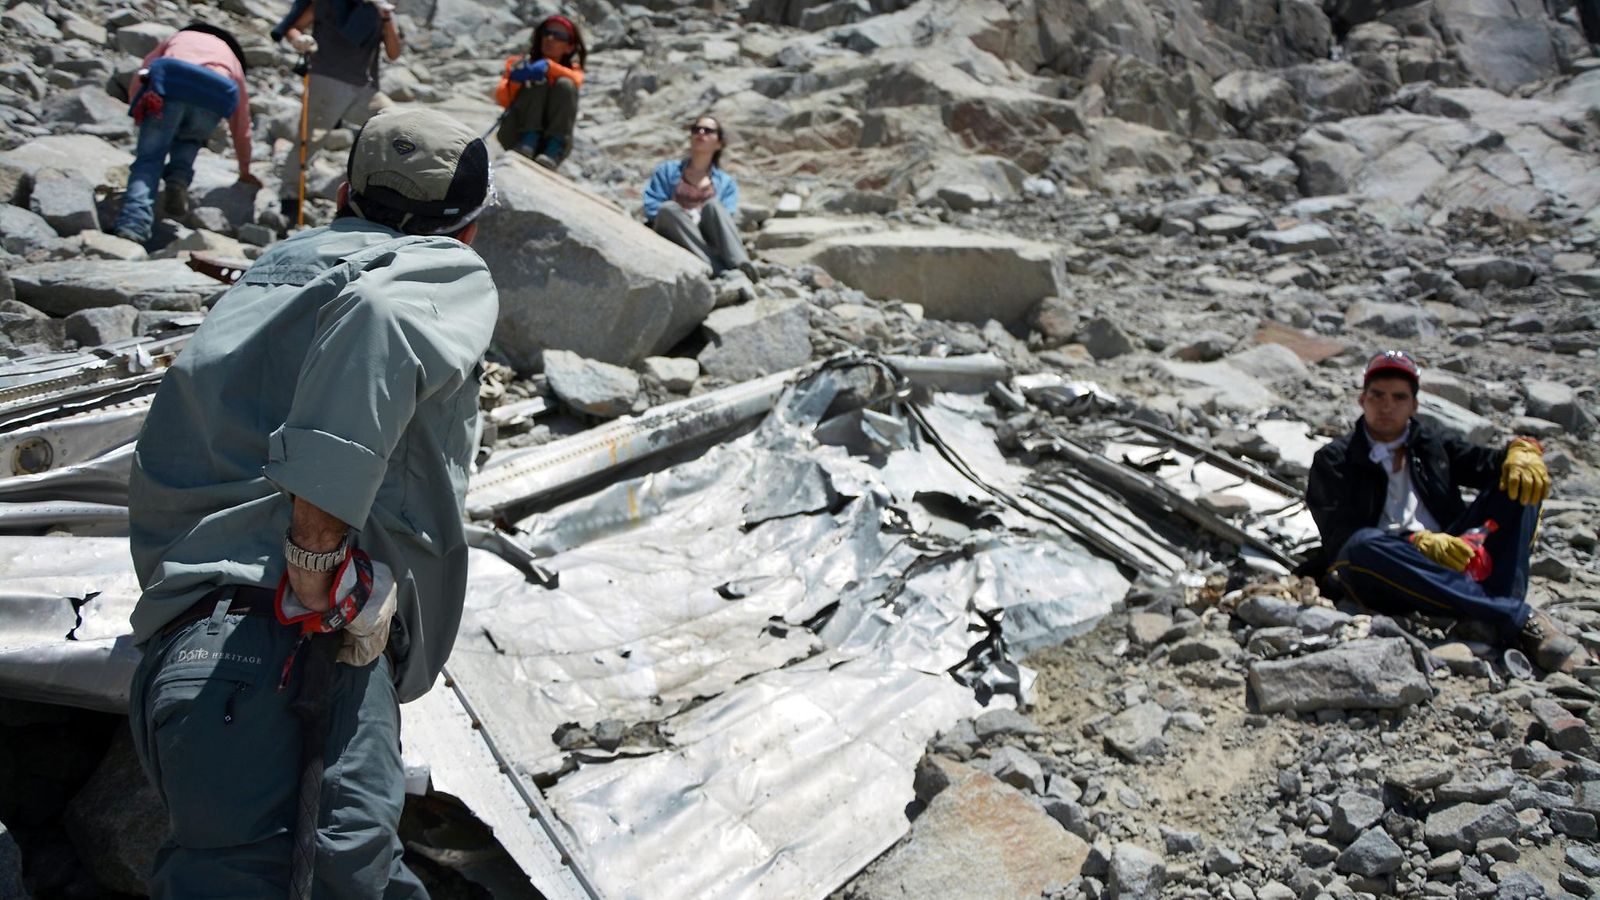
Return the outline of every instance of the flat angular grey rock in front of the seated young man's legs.
{"type": "Polygon", "coordinates": [[[1331,650],[1250,666],[1250,689],[1264,713],[1398,709],[1434,695],[1403,639],[1352,641],[1331,650]]]}

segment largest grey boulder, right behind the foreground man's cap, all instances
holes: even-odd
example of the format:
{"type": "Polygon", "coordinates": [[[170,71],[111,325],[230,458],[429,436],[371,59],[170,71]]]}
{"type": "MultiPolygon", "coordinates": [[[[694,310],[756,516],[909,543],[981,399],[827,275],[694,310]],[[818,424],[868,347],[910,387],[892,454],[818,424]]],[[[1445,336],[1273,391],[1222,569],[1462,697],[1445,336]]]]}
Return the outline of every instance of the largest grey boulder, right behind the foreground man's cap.
{"type": "Polygon", "coordinates": [[[616,205],[517,154],[494,165],[494,186],[472,248],[499,288],[494,346],[518,368],[546,349],[632,365],[715,304],[706,264],[616,205]]]}

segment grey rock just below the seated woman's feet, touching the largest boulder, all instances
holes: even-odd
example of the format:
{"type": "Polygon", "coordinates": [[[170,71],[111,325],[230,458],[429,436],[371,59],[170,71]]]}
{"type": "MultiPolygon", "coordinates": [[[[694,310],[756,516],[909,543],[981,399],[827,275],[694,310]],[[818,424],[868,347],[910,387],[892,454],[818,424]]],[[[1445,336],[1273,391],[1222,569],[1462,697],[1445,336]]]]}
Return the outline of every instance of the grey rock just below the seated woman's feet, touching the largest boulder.
{"type": "Polygon", "coordinates": [[[803,301],[758,299],[718,309],[706,317],[709,343],[699,352],[701,372],[747,381],[811,359],[811,325],[803,301]]]}

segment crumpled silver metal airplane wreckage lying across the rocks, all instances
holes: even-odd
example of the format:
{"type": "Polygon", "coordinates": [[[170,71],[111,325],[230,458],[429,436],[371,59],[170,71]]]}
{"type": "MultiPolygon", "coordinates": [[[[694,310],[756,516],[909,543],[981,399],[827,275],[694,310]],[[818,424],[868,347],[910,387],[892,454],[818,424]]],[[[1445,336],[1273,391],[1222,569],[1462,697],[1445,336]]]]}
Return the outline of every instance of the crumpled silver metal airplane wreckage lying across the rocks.
{"type": "MultiPolygon", "coordinates": [[[[0,367],[0,697],[125,713],[133,442],[197,323],[0,367]]],[[[1136,580],[1315,540],[1291,485],[1115,408],[992,356],[843,356],[501,442],[454,652],[402,708],[408,794],[552,900],[827,897],[907,833],[930,738],[1027,701],[1026,653],[1136,580]]]]}

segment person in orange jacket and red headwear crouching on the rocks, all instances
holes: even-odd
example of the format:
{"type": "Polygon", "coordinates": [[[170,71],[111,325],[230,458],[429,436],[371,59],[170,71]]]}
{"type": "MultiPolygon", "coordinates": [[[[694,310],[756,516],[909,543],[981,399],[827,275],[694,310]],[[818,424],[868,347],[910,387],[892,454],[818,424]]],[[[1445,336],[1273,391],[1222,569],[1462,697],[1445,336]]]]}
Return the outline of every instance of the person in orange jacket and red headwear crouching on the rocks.
{"type": "Polygon", "coordinates": [[[582,32],[566,16],[533,29],[528,54],[507,58],[494,88],[494,102],[506,107],[496,135],[502,147],[546,168],[562,165],[573,149],[587,54],[582,32]]]}

